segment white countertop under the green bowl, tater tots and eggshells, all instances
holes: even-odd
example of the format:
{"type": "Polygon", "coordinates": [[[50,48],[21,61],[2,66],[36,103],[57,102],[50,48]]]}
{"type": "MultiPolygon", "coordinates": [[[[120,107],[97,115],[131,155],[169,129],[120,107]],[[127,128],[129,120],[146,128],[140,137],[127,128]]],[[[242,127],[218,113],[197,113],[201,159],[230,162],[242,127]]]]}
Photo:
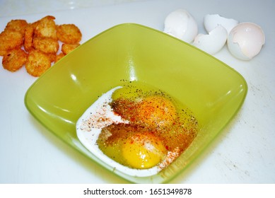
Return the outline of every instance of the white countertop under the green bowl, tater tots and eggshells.
{"type": "MultiPolygon", "coordinates": [[[[244,76],[247,98],[211,146],[171,183],[275,183],[275,1],[1,0],[0,28],[11,19],[33,22],[50,14],[59,24],[78,25],[85,42],[125,22],[163,30],[165,17],[177,8],[192,13],[200,33],[205,33],[202,22],[208,13],[257,23],[266,44],[248,62],[235,59],[227,47],[214,55],[244,76]]],[[[11,73],[0,68],[0,183],[127,183],[64,144],[30,115],[24,96],[36,79],[25,69],[11,73]]]]}

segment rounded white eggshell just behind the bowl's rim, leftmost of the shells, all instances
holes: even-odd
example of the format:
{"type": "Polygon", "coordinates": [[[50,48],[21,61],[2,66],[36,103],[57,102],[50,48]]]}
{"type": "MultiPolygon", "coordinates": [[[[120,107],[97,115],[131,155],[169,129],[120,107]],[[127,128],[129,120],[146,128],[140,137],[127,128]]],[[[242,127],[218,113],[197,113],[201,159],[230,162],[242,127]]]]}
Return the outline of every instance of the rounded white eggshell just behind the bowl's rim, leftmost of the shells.
{"type": "Polygon", "coordinates": [[[165,18],[163,32],[190,43],[198,33],[198,25],[190,13],[178,9],[165,18]]]}

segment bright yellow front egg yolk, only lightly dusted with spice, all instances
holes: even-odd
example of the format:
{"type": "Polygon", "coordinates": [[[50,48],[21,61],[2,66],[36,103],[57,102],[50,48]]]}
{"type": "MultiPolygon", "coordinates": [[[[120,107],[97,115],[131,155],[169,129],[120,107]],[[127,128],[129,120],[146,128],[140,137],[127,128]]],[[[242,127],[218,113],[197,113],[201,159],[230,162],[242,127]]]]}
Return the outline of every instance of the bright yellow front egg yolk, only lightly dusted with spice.
{"type": "Polygon", "coordinates": [[[157,165],[166,150],[153,134],[135,134],[122,146],[122,156],[131,168],[146,169],[157,165]]]}

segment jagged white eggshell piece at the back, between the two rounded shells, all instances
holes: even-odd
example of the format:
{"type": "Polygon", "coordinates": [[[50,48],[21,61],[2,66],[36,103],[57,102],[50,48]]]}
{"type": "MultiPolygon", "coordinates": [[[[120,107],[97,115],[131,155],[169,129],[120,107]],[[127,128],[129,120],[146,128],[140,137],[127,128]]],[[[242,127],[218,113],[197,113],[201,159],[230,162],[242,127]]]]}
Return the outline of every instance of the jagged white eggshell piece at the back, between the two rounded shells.
{"type": "Polygon", "coordinates": [[[224,18],[218,14],[207,14],[204,16],[204,28],[208,33],[210,33],[218,25],[222,25],[223,28],[226,28],[228,35],[230,31],[238,25],[238,21],[233,18],[224,18]]]}

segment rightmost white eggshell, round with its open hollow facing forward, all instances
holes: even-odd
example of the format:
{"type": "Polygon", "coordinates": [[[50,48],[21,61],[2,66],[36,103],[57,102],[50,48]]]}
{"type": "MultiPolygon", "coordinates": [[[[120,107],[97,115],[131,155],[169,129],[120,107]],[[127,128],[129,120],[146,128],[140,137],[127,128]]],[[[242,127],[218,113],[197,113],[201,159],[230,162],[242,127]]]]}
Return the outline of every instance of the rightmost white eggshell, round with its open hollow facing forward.
{"type": "Polygon", "coordinates": [[[240,23],[228,36],[228,50],[233,56],[250,60],[262,50],[264,31],[255,23],[240,23]]]}

